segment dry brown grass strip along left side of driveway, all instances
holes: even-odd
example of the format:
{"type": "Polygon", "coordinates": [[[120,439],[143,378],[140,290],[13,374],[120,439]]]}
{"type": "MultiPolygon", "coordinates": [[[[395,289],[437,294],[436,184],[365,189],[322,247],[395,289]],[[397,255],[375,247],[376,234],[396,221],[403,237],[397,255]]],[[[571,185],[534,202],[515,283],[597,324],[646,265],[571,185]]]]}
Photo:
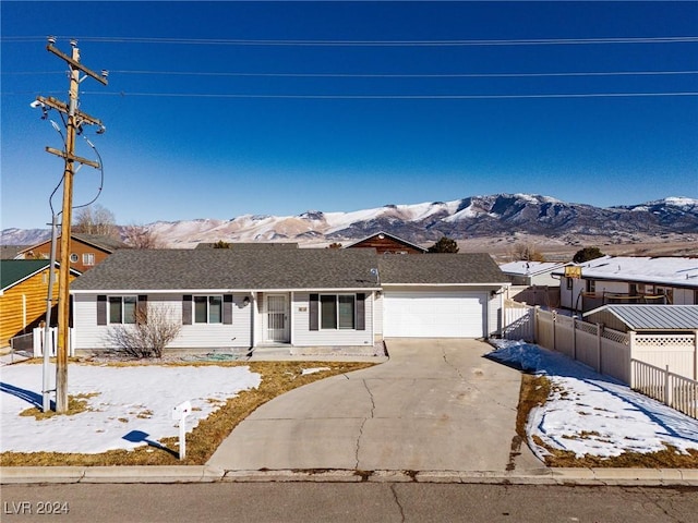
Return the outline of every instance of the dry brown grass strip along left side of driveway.
{"type": "MultiPolygon", "coordinates": [[[[197,363],[197,365],[212,364],[197,363]]],[[[212,413],[206,419],[202,419],[193,431],[186,435],[185,460],[180,461],[178,459],[178,438],[172,437],[158,441],[158,447],[143,446],[131,451],[112,450],[100,454],[3,452],[0,453],[0,465],[203,465],[231,430],[260,405],[297,387],[329,376],[366,368],[373,364],[346,362],[246,362],[215,363],[215,365],[249,366],[252,372],[262,375],[262,384],[256,389],[240,392],[236,398],[226,401],[218,411],[212,413]],[[329,370],[301,375],[304,368],[311,367],[327,367],[329,370]]]]}

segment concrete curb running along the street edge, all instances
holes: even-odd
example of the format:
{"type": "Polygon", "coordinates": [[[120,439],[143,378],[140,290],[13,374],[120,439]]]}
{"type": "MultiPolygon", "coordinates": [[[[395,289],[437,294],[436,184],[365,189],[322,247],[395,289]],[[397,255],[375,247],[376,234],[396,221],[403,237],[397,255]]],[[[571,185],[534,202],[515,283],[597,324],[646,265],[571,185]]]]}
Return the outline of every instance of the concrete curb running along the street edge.
{"type": "Polygon", "coordinates": [[[561,486],[691,486],[696,469],[537,469],[497,471],[226,471],[207,465],[3,466],[0,485],[176,483],[443,483],[561,486]]]}

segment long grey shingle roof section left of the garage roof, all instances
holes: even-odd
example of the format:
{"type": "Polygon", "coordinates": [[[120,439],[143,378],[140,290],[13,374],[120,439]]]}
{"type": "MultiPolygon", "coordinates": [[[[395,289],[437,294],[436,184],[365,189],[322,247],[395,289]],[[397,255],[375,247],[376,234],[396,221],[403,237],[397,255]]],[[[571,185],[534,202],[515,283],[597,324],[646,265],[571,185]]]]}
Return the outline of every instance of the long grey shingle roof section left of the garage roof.
{"type": "Polygon", "coordinates": [[[375,267],[373,250],[120,250],[71,292],[375,289],[375,267]]]}

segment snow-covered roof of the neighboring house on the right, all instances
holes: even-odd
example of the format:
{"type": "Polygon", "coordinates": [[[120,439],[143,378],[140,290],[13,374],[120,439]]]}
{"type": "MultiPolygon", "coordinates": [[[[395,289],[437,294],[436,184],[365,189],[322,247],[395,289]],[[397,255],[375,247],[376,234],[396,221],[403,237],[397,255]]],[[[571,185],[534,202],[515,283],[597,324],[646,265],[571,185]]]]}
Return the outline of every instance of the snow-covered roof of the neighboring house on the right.
{"type": "MultiPolygon", "coordinates": [[[[603,256],[577,265],[585,279],[698,288],[698,258],[603,256]]],[[[557,269],[553,273],[564,275],[564,270],[557,269]]]]}

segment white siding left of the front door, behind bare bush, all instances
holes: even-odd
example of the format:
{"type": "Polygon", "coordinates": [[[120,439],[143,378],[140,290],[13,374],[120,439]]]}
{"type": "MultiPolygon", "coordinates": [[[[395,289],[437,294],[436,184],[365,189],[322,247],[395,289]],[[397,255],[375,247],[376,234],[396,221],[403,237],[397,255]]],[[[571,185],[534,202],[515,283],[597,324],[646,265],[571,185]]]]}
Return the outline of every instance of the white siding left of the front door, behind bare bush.
{"type": "MultiPolygon", "coordinates": [[[[75,294],[73,297],[75,350],[113,349],[108,342],[108,332],[113,326],[97,325],[97,294],[75,294]]],[[[233,295],[232,325],[182,325],[178,338],[168,349],[249,348],[252,307],[244,306],[243,297],[242,294],[233,295]]],[[[165,308],[172,321],[182,321],[181,294],[151,294],[148,307],[165,308]]]]}

